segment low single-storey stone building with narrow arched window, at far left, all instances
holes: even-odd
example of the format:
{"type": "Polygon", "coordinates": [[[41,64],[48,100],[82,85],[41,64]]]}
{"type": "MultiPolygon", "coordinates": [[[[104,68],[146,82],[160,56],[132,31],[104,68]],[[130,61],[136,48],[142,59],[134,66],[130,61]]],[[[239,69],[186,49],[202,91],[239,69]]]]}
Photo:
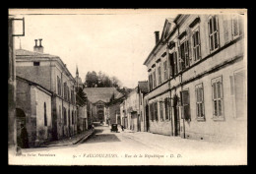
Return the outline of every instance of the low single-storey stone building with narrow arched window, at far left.
{"type": "Polygon", "coordinates": [[[27,129],[30,146],[51,141],[51,97],[52,92],[31,81],[17,76],[17,140],[22,146],[22,125],[27,129]]]}

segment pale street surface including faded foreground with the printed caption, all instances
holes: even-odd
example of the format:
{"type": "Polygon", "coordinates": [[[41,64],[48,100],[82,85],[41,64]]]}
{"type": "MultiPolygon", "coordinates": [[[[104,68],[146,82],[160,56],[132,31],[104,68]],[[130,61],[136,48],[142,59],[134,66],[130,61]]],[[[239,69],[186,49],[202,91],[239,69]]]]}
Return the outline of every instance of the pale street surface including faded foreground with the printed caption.
{"type": "Polygon", "coordinates": [[[234,164],[246,160],[241,145],[185,140],[145,132],[110,132],[96,127],[95,134],[78,145],[23,149],[15,162],[71,165],[205,165],[234,164]]]}

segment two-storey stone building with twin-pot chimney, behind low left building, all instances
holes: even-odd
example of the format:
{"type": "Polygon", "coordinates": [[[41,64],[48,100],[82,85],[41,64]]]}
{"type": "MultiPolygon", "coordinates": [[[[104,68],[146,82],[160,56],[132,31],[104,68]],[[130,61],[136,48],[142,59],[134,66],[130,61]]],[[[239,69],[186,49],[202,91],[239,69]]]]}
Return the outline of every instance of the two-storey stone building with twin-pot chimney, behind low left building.
{"type": "Polygon", "coordinates": [[[43,46],[34,51],[16,50],[16,72],[21,78],[45,87],[53,93],[52,140],[70,137],[77,133],[75,79],[58,56],[43,53],[43,46]]]}

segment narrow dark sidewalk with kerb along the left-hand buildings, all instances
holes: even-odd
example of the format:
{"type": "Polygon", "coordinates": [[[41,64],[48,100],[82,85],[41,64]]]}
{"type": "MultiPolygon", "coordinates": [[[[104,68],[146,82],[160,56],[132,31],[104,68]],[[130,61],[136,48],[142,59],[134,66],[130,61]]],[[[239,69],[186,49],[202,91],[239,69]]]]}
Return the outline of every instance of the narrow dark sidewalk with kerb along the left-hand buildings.
{"type": "Polygon", "coordinates": [[[79,144],[80,142],[83,142],[84,140],[88,139],[91,135],[93,135],[94,132],[95,132],[95,130],[88,130],[81,134],[75,135],[71,138],[66,138],[66,139],[62,139],[59,141],[45,143],[44,145],[41,145],[41,147],[76,145],[76,144],[79,144]]]}

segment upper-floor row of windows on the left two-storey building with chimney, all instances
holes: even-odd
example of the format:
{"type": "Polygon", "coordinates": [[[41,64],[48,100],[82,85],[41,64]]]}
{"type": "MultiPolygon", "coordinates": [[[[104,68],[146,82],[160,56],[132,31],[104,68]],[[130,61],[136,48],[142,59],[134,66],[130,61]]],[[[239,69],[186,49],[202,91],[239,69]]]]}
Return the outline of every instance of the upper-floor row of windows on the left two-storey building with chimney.
{"type": "MultiPolygon", "coordinates": [[[[67,83],[63,84],[63,89],[64,89],[64,99],[70,101],[71,103],[75,104],[75,94],[74,90],[70,90],[69,87],[67,86],[67,83]]],[[[61,80],[57,76],[57,93],[62,96],[62,86],[61,86],[61,80]]]]}

